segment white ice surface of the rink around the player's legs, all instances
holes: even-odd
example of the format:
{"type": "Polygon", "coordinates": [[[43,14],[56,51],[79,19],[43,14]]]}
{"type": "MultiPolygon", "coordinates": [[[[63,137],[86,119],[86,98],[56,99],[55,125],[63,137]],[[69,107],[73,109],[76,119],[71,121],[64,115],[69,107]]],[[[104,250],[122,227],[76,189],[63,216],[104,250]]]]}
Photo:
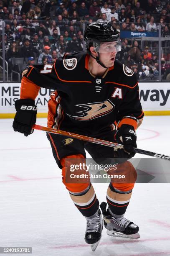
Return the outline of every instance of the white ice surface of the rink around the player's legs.
{"type": "MultiPolygon", "coordinates": [[[[170,255],[170,184],[135,184],[125,217],[139,225],[141,237],[112,238],[104,228],[92,252],[84,242],[86,221],[61,182],[46,134],[25,137],[13,132],[12,121],[0,120],[1,247],[30,246],[33,256],[170,255]]],[[[139,148],[170,155],[170,116],[145,117],[137,135],[139,148]]],[[[107,186],[94,184],[100,202],[107,186]]]]}

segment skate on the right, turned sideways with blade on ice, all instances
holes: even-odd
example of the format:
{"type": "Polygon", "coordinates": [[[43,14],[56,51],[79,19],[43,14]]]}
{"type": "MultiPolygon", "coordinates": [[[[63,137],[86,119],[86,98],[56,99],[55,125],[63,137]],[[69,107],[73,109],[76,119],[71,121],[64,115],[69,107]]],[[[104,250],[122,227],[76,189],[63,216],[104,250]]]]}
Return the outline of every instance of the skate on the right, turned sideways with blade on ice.
{"type": "Polygon", "coordinates": [[[107,235],[119,236],[124,238],[140,238],[139,227],[132,221],[122,218],[114,218],[109,208],[106,210],[107,203],[102,202],[100,208],[103,213],[104,226],[107,229],[107,235]]]}

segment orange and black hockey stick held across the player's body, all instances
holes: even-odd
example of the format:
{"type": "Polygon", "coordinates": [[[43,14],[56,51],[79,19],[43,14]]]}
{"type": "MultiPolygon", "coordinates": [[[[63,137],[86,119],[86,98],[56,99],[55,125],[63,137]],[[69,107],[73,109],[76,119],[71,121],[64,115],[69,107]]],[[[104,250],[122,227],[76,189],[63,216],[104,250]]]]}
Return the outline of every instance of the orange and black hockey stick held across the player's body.
{"type": "MultiPolygon", "coordinates": [[[[79,135],[79,134],[76,134],[76,133],[69,133],[69,132],[66,132],[66,131],[56,130],[56,129],[48,128],[48,127],[41,126],[41,125],[36,125],[35,124],[35,125],[33,125],[33,129],[46,131],[48,133],[54,133],[54,134],[58,134],[58,135],[64,135],[64,136],[67,136],[67,137],[76,138],[78,140],[97,143],[97,144],[100,144],[100,145],[103,145],[103,146],[109,146],[109,147],[112,147],[112,148],[117,148],[118,146],[120,148],[123,148],[122,144],[114,143],[114,142],[111,142],[111,141],[103,141],[103,140],[100,140],[100,139],[97,139],[97,138],[92,138],[92,137],[88,137],[88,136],[84,136],[84,135],[79,135]]],[[[147,156],[154,156],[154,157],[157,157],[157,158],[161,158],[161,159],[165,159],[165,160],[170,161],[170,156],[163,155],[163,154],[158,154],[158,153],[143,150],[143,149],[140,149],[140,148],[134,148],[134,152],[139,153],[139,154],[143,154],[143,155],[147,155],[147,156]]]]}

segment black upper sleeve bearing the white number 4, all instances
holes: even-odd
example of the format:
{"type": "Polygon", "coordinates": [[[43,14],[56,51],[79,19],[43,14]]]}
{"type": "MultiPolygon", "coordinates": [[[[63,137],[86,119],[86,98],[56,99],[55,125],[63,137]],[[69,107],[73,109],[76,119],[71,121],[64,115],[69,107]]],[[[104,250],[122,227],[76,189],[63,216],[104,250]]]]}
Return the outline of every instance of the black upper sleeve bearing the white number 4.
{"type": "Polygon", "coordinates": [[[61,81],[59,81],[56,75],[54,65],[55,64],[37,64],[30,66],[25,77],[39,87],[61,90],[61,81]]]}

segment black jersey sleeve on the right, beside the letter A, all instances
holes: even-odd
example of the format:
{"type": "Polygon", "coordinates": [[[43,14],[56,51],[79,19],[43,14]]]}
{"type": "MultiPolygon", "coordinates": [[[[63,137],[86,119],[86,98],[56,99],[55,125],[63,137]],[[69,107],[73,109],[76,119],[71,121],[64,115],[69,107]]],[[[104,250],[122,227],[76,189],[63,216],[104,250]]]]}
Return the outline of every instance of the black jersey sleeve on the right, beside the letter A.
{"type": "Polygon", "coordinates": [[[117,122],[119,122],[125,116],[132,116],[137,119],[141,119],[144,116],[142,105],[140,103],[138,83],[134,88],[128,88],[126,94],[124,95],[124,99],[122,100],[122,104],[118,110],[117,122]]]}

